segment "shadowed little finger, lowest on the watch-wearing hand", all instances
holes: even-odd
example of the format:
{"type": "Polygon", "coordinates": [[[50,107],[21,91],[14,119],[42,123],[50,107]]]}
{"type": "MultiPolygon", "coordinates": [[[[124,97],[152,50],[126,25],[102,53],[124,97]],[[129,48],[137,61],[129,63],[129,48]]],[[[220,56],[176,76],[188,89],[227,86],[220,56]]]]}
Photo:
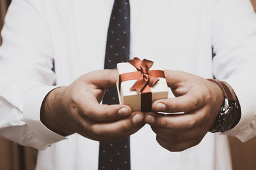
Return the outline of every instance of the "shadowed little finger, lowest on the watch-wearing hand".
{"type": "Polygon", "coordinates": [[[161,145],[163,148],[166,148],[166,150],[169,150],[171,152],[181,152],[183,150],[198,145],[200,141],[202,141],[202,138],[197,138],[191,141],[185,141],[181,143],[172,143],[170,141],[167,141],[166,139],[161,138],[160,136],[156,136],[156,140],[157,143],[159,143],[159,145],[161,145]]]}

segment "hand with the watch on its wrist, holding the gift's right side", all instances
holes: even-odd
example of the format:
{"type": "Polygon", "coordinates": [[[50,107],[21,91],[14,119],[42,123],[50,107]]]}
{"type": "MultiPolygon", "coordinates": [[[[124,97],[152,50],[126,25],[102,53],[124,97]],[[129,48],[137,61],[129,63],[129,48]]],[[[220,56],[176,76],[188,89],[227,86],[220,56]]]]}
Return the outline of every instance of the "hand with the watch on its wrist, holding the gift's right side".
{"type": "Polygon", "coordinates": [[[156,133],[159,145],[179,152],[200,143],[214,124],[224,97],[218,85],[199,76],[182,71],[164,74],[175,98],[155,101],[152,110],[174,114],[147,113],[145,122],[156,133]]]}

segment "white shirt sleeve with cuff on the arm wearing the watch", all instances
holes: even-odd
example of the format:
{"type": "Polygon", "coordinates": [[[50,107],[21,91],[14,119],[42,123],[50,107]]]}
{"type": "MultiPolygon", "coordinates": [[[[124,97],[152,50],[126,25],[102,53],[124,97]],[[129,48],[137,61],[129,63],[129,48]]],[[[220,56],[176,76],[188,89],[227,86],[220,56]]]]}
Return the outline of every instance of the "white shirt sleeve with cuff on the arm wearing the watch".
{"type": "Polygon", "coordinates": [[[225,132],[256,136],[256,15],[250,0],[217,0],[212,8],[213,73],[226,81],[241,105],[241,120],[225,132]]]}

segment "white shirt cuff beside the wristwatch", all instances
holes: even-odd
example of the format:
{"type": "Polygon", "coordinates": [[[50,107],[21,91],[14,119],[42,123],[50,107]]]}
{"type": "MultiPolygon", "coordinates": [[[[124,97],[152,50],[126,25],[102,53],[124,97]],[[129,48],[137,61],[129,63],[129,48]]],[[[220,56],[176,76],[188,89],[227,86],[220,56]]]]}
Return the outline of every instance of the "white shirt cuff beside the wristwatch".
{"type": "Polygon", "coordinates": [[[237,76],[239,78],[229,78],[226,81],[236,93],[241,106],[241,119],[233,129],[223,134],[235,136],[245,142],[256,135],[256,82],[246,76],[237,76]]]}

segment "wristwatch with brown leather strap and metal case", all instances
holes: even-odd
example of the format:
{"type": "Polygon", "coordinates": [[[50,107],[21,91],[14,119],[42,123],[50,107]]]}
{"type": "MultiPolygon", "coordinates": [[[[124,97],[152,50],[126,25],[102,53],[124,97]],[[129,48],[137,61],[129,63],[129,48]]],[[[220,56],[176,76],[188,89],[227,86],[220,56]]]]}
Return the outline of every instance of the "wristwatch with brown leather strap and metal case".
{"type": "Polygon", "coordinates": [[[224,96],[223,106],[221,107],[220,113],[216,117],[216,120],[209,132],[214,133],[228,131],[229,129],[232,129],[241,118],[239,103],[236,103],[235,97],[232,96],[232,93],[223,81],[215,79],[207,80],[212,81],[220,86],[224,96]]]}

